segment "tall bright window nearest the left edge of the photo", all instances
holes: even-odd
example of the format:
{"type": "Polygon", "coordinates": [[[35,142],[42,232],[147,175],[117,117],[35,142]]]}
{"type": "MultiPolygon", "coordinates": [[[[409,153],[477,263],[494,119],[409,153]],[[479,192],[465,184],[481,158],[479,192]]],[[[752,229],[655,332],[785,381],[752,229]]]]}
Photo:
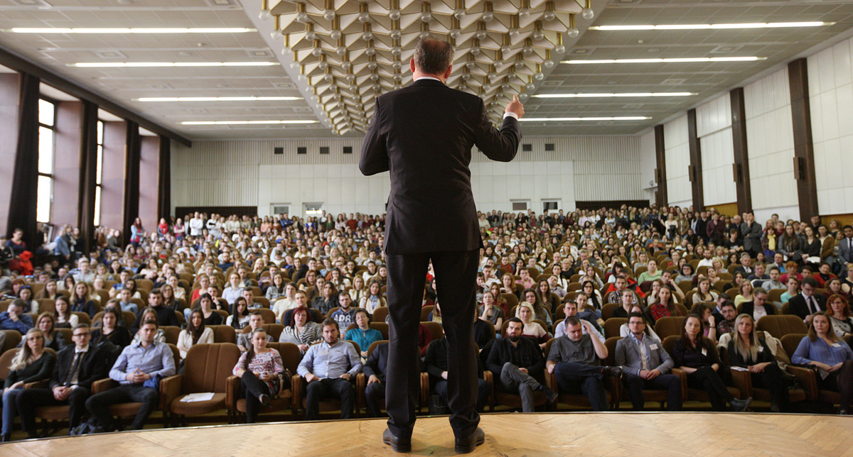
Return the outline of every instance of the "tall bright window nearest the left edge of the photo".
{"type": "Polygon", "coordinates": [[[45,99],[38,100],[38,182],[36,183],[36,220],[50,221],[53,203],[53,171],[56,141],[56,106],[45,99]]]}

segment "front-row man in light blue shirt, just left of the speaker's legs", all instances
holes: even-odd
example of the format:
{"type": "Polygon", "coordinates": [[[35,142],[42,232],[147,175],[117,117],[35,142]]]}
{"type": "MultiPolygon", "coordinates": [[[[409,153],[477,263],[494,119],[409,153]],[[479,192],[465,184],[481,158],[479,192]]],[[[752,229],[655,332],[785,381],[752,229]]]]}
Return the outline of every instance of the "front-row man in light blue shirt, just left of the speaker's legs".
{"type": "Polygon", "coordinates": [[[305,378],[305,420],[320,416],[320,400],[340,400],[340,418],[350,419],[356,404],[352,386],[362,362],[350,343],[339,340],[338,323],[326,319],[322,323],[322,341],[312,345],[302,357],[297,372],[305,378]]]}

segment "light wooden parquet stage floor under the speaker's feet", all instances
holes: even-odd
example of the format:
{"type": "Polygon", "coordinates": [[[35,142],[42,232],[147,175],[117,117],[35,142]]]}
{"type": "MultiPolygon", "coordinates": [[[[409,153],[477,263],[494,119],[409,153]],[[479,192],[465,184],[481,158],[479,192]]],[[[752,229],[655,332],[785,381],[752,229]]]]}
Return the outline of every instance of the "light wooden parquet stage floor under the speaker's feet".
{"type": "MultiPolygon", "coordinates": [[[[853,417],[812,414],[484,414],[475,455],[763,457],[853,455],[853,417]]],[[[395,455],[385,420],[202,426],[58,437],[0,445],[8,456],[395,455]]],[[[419,418],[412,454],[456,455],[446,417],[419,418]]]]}

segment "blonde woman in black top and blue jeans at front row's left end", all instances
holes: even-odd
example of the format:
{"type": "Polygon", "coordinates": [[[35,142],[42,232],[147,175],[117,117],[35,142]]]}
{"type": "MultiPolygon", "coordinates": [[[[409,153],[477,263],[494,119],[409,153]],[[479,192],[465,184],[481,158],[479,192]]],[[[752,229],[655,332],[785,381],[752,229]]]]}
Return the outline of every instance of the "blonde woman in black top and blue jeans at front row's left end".
{"type": "Polygon", "coordinates": [[[49,380],[53,374],[56,357],[44,351],[44,334],[38,328],[30,328],[24,335],[24,345],[12,359],[9,376],[3,385],[3,430],[0,437],[8,442],[12,435],[15,416],[18,415],[18,396],[24,385],[40,380],[49,380]]]}

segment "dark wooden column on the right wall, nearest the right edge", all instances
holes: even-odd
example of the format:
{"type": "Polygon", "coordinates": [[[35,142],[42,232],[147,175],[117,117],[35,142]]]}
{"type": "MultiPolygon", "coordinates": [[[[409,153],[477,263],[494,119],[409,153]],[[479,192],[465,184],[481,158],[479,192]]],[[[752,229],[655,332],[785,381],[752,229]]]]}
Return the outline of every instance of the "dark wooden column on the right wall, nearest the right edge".
{"type": "Polygon", "coordinates": [[[794,179],[797,180],[800,220],[818,215],[815,177],[815,146],[811,137],[809,111],[809,66],[805,59],[788,64],[791,86],[791,120],[794,134],[794,179]]]}

